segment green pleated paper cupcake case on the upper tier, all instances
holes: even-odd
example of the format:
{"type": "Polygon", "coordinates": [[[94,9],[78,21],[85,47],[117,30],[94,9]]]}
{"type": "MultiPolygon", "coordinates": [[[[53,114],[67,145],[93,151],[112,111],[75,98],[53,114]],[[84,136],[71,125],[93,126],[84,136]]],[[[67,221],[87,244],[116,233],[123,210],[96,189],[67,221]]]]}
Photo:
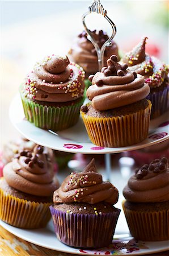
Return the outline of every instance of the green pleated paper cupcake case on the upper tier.
{"type": "Polygon", "coordinates": [[[84,97],[74,105],[52,107],[43,106],[28,100],[21,94],[24,114],[29,122],[42,129],[60,131],[78,122],[79,110],[84,97]]]}

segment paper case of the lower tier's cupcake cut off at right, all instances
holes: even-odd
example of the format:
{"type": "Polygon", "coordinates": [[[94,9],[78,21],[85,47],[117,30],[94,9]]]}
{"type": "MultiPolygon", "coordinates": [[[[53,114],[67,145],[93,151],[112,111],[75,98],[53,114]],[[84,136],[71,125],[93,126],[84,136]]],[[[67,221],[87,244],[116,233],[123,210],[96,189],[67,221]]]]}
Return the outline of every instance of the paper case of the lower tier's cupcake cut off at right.
{"type": "Polygon", "coordinates": [[[134,238],[142,241],[169,240],[169,209],[143,212],[127,209],[124,203],[122,208],[134,238]]]}

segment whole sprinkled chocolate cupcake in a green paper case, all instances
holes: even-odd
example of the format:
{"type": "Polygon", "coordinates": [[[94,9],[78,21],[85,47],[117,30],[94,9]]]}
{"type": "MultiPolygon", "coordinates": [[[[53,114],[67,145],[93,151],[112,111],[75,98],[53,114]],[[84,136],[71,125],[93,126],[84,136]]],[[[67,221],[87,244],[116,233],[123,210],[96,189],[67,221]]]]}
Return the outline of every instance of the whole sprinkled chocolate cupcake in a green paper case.
{"type": "Polygon", "coordinates": [[[67,129],[79,118],[84,97],[84,71],[67,56],[48,56],[37,63],[20,86],[24,114],[37,127],[67,129]]]}

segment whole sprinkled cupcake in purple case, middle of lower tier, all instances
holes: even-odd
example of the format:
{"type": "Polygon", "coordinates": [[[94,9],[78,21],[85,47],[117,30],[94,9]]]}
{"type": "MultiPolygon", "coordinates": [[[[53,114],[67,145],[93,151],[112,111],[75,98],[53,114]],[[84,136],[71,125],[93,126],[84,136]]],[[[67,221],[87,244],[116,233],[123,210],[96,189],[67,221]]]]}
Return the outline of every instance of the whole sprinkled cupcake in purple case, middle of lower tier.
{"type": "Polygon", "coordinates": [[[72,172],[53,194],[50,212],[58,240],[74,247],[103,247],[112,242],[120,210],[119,193],[96,171],[94,159],[72,172]]]}

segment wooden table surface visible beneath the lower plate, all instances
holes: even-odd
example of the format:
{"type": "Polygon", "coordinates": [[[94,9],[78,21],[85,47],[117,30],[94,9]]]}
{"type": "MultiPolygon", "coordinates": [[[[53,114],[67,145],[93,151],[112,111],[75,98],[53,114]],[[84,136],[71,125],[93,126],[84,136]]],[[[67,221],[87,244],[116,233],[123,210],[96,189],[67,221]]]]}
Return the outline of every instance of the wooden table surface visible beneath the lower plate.
{"type": "MultiPolygon", "coordinates": [[[[33,245],[18,238],[0,226],[0,256],[73,256],[74,254],[60,253],[41,246],[33,245]]],[[[152,256],[168,256],[169,251],[150,254],[152,256]]]]}

